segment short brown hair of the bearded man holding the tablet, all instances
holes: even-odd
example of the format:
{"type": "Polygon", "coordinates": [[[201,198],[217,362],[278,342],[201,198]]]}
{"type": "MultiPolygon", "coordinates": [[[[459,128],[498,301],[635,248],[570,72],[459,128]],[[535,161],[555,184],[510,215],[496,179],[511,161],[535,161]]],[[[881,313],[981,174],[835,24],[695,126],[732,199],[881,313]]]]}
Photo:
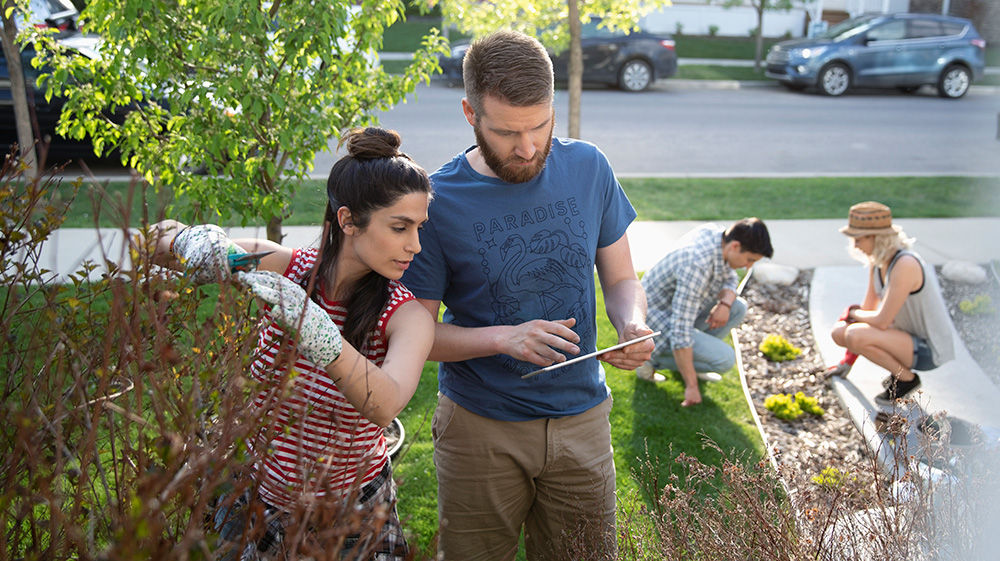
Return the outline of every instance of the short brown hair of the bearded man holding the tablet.
{"type": "Polygon", "coordinates": [[[534,37],[510,30],[476,39],[462,61],[465,98],[473,111],[483,111],[483,97],[515,107],[552,103],[555,80],[552,59],[534,37]]]}

